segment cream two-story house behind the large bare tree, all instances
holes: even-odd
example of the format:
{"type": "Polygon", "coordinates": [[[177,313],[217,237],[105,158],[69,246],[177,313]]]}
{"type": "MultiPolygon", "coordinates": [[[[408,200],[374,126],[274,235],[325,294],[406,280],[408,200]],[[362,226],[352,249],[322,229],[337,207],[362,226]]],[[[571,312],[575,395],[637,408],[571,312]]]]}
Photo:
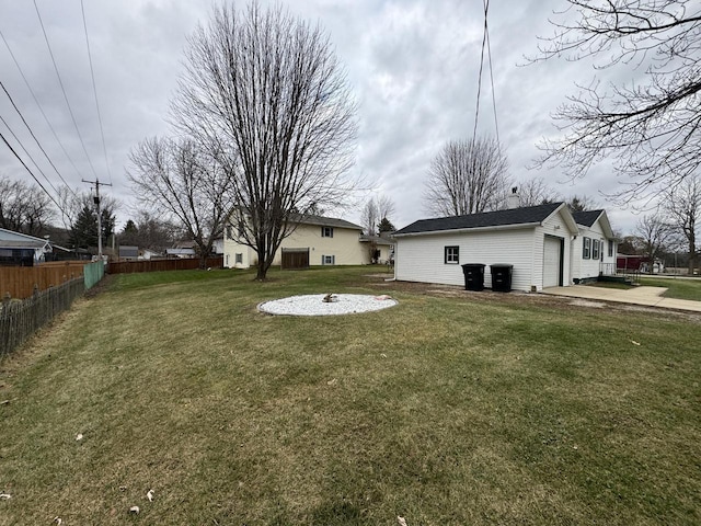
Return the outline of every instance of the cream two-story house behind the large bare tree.
{"type": "MultiPolygon", "coordinates": [[[[235,227],[228,226],[223,240],[223,266],[249,268],[257,264],[255,250],[241,242],[235,227]]],[[[367,245],[360,243],[363,227],[333,217],[300,215],[295,231],[285,238],[273,265],[363,265],[370,261],[367,245]]]]}

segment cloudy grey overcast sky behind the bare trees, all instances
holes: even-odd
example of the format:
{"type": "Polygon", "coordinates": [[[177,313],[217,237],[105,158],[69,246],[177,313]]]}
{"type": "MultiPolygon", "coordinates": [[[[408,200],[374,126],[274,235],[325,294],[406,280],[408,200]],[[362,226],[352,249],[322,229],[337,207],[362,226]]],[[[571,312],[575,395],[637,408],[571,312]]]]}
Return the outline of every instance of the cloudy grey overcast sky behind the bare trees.
{"type": "MultiPolygon", "coordinates": [[[[422,195],[432,159],[446,141],[472,136],[484,23],[482,1],[283,3],[292,14],[321,23],[347,70],[358,105],[356,173],[370,181],[377,194],[394,201],[397,213],[391,219],[398,228],[427,217],[422,195]]],[[[165,116],[182,70],[186,37],[198,22],[206,22],[211,4],[198,0],[84,0],[107,162],[80,0],[36,0],[36,5],[94,171],[68,111],[34,1],[0,0],[0,32],[70,160],[42,116],[2,38],[0,80],[70,186],[88,190],[89,185],[81,180],[95,176],[112,183],[112,187],[103,191],[122,202],[117,214],[120,228],[134,203],[125,175],[129,149],[145,137],[169,134],[165,116]]],[[[556,134],[551,112],[567,94],[576,93],[575,81],[588,83],[595,75],[590,65],[583,62],[559,60],[521,66],[526,62],[524,55],[536,53],[537,36],[552,34],[548,19],[553,10],[565,7],[564,0],[491,3],[489,24],[501,140],[516,184],[542,176],[564,197],[573,194],[593,197],[607,208],[614,229],[630,233],[637,216],[608,204],[600,195],[614,191],[618,184],[605,165],[574,183],[558,170],[527,168],[538,156],[539,140],[556,134]]],[[[601,78],[611,73],[597,75],[601,78]]],[[[493,135],[494,106],[489,79],[485,70],[479,128],[482,134],[493,135]]],[[[2,91],[0,116],[48,180],[57,187],[62,184],[2,91]]],[[[0,132],[34,169],[2,122],[0,132]]],[[[33,171],[53,192],[39,172],[33,171]]],[[[32,182],[2,142],[0,175],[32,182]]],[[[369,196],[359,196],[359,201],[369,196]]],[[[358,210],[356,206],[336,215],[360,222],[358,210]]]]}

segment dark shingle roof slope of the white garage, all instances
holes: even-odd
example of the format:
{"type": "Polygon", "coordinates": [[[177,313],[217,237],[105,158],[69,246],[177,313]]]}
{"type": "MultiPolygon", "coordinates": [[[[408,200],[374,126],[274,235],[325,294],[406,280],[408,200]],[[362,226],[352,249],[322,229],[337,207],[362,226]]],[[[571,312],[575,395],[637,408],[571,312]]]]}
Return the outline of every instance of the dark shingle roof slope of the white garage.
{"type": "Polygon", "coordinates": [[[562,205],[563,203],[548,203],[545,205],[485,211],[482,214],[470,214],[468,216],[422,219],[398,230],[397,232],[394,232],[394,236],[435,232],[443,230],[464,230],[470,228],[501,227],[508,225],[540,224],[562,205]]]}

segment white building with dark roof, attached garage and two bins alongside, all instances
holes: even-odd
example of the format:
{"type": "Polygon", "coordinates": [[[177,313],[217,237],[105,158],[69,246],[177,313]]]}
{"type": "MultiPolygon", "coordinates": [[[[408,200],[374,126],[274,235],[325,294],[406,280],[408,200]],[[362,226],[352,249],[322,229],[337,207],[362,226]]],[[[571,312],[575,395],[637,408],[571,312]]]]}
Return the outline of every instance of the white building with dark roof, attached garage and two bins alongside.
{"type": "Polygon", "coordinates": [[[537,291],[608,273],[602,263],[609,259],[601,260],[601,247],[608,254],[613,236],[606,213],[597,210],[594,219],[578,217],[584,225],[577,224],[566,204],[550,203],[420,220],[394,232],[394,275],[407,282],[464,285],[461,265],[481,263],[486,265],[484,284],[490,287],[490,265],[507,264],[513,265],[513,289],[537,291]],[[599,252],[593,260],[595,238],[599,252]]]}

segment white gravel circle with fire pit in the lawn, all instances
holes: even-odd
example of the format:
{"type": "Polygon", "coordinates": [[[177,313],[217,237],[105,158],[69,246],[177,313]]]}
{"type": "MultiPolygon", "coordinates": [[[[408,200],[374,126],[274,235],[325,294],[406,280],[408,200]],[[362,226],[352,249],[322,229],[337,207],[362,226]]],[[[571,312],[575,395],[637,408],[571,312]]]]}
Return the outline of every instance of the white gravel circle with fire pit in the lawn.
{"type": "Polygon", "coordinates": [[[389,296],[365,294],[334,294],[333,301],[323,301],[325,294],[308,294],[264,301],[258,310],[268,315],[338,316],[370,312],[394,307],[399,301],[389,296]]]}

